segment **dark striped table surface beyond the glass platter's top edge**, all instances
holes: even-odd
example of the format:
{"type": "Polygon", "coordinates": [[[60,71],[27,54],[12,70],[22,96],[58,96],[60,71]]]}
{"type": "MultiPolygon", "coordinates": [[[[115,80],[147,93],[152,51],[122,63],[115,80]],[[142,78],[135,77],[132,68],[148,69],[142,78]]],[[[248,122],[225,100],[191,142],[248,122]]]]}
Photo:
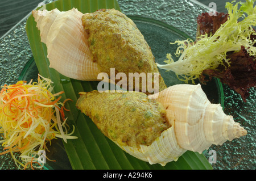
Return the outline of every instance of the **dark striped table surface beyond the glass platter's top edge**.
{"type": "MultiPolygon", "coordinates": [[[[154,0],[152,0],[154,1],[154,0]]],[[[171,1],[171,0],[166,0],[171,1]]],[[[210,2],[216,3],[218,12],[226,12],[225,2],[233,0],[198,0],[206,6],[210,2]]],[[[245,0],[243,0],[245,1],[245,0]]],[[[0,0],[0,37],[5,35],[16,23],[34,10],[43,0],[0,0]]]]}

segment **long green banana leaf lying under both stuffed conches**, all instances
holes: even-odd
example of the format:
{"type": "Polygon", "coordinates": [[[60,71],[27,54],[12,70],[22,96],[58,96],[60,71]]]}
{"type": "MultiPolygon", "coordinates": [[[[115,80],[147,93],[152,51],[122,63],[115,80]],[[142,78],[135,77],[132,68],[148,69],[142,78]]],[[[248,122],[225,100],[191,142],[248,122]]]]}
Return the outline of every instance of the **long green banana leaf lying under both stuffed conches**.
{"type": "MultiPolygon", "coordinates": [[[[115,0],[60,0],[46,5],[47,10],[57,8],[60,11],[67,11],[73,7],[82,13],[112,8],[121,11],[115,0]]],[[[163,167],[159,164],[150,165],[120,149],[75,106],[79,92],[96,90],[98,82],[78,81],[49,68],[47,47],[40,41],[40,32],[32,15],[27,20],[26,31],[39,73],[52,80],[54,92],[65,92],[61,100],[73,100],[67,102],[66,107],[71,112],[65,112],[65,116],[68,117],[69,125],[75,125],[73,135],[78,138],[68,140],[67,144],[63,142],[72,169],[212,169],[203,154],[192,151],[187,151],[176,162],[167,163],[163,167]]]]}

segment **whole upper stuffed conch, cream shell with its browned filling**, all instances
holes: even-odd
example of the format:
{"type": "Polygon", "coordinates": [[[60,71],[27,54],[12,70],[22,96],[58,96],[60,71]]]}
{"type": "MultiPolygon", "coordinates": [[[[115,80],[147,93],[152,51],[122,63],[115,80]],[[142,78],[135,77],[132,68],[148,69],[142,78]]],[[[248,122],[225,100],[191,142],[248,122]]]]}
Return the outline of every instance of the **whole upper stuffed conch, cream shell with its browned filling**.
{"type": "Polygon", "coordinates": [[[103,72],[110,77],[112,68],[115,75],[128,75],[130,71],[146,76],[156,73],[159,90],[166,88],[146,40],[122,12],[101,9],[82,14],[73,8],[69,11],[35,10],[32,15],[41,41],[47,46],[49,67],[59,73],[81,81],[101,81],[98,74],[103,72]]]}

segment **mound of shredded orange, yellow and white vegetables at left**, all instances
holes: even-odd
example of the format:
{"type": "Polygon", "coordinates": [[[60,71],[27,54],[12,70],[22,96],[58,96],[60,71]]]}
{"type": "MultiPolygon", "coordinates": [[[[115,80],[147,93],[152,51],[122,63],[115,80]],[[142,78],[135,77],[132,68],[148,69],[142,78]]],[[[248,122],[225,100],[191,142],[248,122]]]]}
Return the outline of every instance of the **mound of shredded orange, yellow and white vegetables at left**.
{"type": "MultiPolygon", "coordinates": [[[[0,133],[2,133],[3,151],[10,153],[19,169],[43,167],[38,162],[39,150],[47,150],[47,142],[54,138],[77,138],[71,136],[66,125],[64,100],[60,94],[52,94],[51,80],[38,76],[38,82],[18,81],[14,85],[4,85],[0,92],[0,133]],[[56,98],[56,96],[59,96],[56,98]],[[62,119],[62,120],[61,120],[62,119]],[[20,152],[22,162],[13,152],[20,152]],[[34,163],[34,164],[32,164],[34,163]],[[37,164],[36,164],[37,163],[37,164]]],[[[74,126],[73,126],[74,127],[74,126]]],[[[44,155],[46,156],[46,155],[44,155]]],[[[47,158],[47,157],[46,157],[47,158]]]]}

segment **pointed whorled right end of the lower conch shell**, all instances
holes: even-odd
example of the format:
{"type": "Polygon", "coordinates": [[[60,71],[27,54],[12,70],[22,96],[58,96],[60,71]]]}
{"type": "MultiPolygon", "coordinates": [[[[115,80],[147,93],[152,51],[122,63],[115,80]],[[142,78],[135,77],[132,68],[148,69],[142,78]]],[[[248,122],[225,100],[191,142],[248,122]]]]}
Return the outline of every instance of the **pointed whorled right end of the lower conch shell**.
{"type": "Polygon", "coordinates": [[[171,86],[150,97],[174,114],[172,124],[181,148],[202,153],[212,144],[222,145],[247,134],[220,104],[209,102],[200,84],[171,86]]]}

